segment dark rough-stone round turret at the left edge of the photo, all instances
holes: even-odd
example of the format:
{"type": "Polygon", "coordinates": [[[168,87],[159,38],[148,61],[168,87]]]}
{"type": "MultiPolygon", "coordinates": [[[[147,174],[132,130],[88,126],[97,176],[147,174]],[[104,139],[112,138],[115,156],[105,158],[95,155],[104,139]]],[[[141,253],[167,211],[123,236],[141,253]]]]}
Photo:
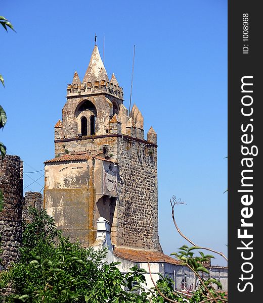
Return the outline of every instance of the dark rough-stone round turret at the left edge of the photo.
{"type": "Polygon", "coordinates": [[[18,156],[6,155],[0,159],[0,188],[4,194],[4,210],[0,213],[3,249],[0,258],[7,268],[18,260],[22,237],[23,163],[18,156]]]}

